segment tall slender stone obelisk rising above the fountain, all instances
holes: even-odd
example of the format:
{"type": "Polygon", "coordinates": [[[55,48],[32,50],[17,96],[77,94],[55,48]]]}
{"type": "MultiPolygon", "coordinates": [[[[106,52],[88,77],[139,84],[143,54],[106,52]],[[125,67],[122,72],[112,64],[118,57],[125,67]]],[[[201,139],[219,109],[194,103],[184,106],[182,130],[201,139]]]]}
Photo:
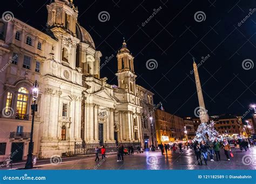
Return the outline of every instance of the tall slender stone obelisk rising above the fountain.
{"type": "MultiPolygon", "coordinates": [[[[193,58],[193,61],[194,61],[194,58],[193,58]]],[[[197,96],[198,96],[199,108],[200,108],[199,109],[200,121],[203,123],[207,123],[209,121],[209,117],[207,114],[207,110],[205,108],[203,92],[201,89],[199,74],[198,74],[198,70],[197,70],[197,63],[195,61],[193,62],[193,68],[194,68],[194,78],[196,79],[196,85],[197,85],[197,96]]]]}

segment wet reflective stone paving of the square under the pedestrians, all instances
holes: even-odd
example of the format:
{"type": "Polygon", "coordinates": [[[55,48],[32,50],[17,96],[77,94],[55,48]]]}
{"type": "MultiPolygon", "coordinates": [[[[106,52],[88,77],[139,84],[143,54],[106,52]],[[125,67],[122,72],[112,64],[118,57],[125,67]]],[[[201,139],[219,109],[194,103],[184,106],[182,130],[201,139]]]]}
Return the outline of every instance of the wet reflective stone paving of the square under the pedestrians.
{"type": "MultiPolygon", "coordinates": [[[[46,164],[33,169],[256,169],[256,147],[241,152],[232,148],[234,157],[227,161],[224,150],[221,150],[221,161],[209,161],[208,165],[196,165],[193,150],[183,150],[183,153],[161,155],[160,151],[124,155],[124,161],[117,162],[117,155],[109,155],[105,160],[95,161],[94,157],[79,157],[60,164],[46,164]]],[[[214,157],[215,159],[215,157],[214,157]]]]}

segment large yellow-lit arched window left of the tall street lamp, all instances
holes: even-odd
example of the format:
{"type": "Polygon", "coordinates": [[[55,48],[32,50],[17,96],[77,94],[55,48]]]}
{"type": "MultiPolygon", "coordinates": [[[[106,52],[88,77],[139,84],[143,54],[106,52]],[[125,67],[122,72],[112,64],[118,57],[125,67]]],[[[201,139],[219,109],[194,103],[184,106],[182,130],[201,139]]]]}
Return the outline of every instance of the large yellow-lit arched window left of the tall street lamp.
{"type": "Polygon", "coordinates": [[[18,90],[17,105],[16,105],[16,119],[28,120],[28,89],[21,87],[18,90]]]}

